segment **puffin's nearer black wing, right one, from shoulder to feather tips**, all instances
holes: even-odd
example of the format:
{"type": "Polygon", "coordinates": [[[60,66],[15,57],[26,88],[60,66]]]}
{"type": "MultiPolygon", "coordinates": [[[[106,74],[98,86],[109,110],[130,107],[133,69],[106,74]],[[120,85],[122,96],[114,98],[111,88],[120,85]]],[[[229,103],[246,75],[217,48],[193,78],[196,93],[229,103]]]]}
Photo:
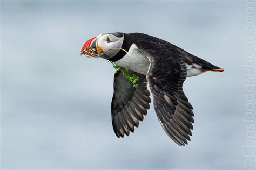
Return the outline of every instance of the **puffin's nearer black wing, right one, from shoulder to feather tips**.
{"type": "Polygon", "coordinates": [[[178,145],[187,144],[193,129],[193,107],[183,92],[186,65],[169,42],[154,39],[138,47],[151,62],[147,80],[153,94],[154,109],[161,126],[178,145]],[[146,44],[146,45],[145,45],[146,44]]]}

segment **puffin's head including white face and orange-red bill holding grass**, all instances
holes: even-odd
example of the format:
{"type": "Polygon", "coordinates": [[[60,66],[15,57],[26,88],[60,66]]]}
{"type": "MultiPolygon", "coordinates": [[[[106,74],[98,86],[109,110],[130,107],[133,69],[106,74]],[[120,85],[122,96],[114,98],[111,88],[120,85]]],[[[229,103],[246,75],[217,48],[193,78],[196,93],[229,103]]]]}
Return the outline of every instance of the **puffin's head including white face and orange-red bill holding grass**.
{"type": "Polygon", "coordinates": [[[85,42],[81,49],[81,55],[110,59],[120,51],[123,41],[124,33],[99,34],[85,42]]]}

